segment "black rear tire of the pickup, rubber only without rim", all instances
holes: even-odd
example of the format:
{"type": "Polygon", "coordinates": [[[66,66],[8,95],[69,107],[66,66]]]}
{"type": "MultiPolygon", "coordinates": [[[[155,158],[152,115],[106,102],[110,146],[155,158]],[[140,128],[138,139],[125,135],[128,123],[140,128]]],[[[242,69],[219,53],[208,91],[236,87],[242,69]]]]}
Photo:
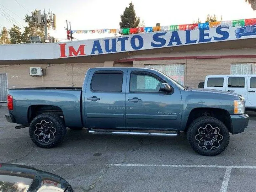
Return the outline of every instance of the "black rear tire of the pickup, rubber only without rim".
{"type": "Polygon", "coordinates": [[[66,127],[64,120],[55,113],[43,113],[36,116],[30,123],[29,133],[31,140],[41,148],[53,148],[61,143],[66,135],[66,127]],[[48,143],[44,141],[40,141],[35,131],[37,129],[36,124],[42,122],[42,120],[46,122],[51,122],[52,127],[55,128],[54,139],[48,141],[48,143]]]}

